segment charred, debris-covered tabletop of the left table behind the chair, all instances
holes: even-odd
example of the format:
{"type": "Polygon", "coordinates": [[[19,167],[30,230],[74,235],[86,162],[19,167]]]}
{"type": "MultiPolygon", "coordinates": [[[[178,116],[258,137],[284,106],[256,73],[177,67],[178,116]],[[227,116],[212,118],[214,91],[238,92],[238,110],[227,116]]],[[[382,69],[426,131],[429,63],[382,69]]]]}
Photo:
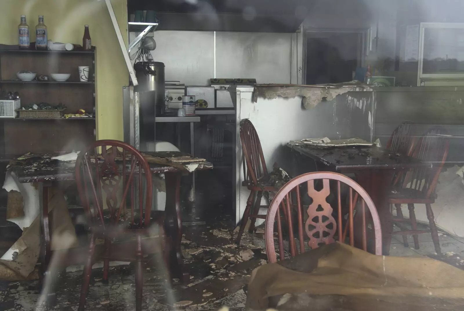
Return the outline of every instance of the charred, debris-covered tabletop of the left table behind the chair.
{"type": "MultiPolygon", "coordinates": [[[[26,159],[21,157],[11,161],[8,169],[11,169],[15,173],[20,183],[74,180],[76,161],[52,159],[55,155],[48,153],[27,155],[26,159]]],[[[157,152],[149,152],[149,155],[152,157],[158,156],[157,152]]],[[[160,158],[166,157],[166,154],[163,152],[159,155],[160,158]]],[[[213,164],[206,161],[184,162],[182,163],[184,168],[157,163],[149,163],[149,165],[153,173],[193,172],[213,168],[213,164]]]]}

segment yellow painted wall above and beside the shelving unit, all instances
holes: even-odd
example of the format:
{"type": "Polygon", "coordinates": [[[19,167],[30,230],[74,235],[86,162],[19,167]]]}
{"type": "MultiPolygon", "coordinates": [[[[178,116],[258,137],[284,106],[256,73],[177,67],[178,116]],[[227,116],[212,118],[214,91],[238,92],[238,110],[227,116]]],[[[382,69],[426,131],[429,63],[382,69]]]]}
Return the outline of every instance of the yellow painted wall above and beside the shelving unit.
{"type": "MultiPolygon", "coordinates": [[[[127,0],[111,3],[127,45],[127,0]]],[[[105,1],[0,0],[1,44],[18,44],[21,14],[33,29],[44,15],[48,38],[54,42],[82,44],[84,25],[89,25],[92,45],[97,47],[97,139],[123,140],[122,86],[128,85],[129,73],[105,1]]],[[[34,31],[30,37],[35,41],[34,31]]]]}

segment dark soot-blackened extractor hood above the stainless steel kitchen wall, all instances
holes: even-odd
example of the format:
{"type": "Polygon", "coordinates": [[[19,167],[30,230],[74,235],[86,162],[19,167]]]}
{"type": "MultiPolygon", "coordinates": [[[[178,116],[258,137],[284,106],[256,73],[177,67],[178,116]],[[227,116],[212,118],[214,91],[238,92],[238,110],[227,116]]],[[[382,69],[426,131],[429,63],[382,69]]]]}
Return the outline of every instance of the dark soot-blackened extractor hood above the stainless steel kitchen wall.
{"type": "Polygon", "coordinates": [[[157,30],[295,32],[312,0],[128,0],[128,13],[154,10],[157,30]]]}

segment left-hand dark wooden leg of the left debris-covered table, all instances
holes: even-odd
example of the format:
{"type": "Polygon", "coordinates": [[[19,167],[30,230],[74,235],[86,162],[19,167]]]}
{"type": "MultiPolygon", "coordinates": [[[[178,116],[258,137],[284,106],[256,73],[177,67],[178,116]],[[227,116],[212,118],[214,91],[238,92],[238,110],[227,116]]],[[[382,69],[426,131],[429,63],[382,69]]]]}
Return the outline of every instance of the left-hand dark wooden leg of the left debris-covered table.
{"type": "MultiPolygon", "coordinates": [[[[52,258],[51,250],[51,222],[52,219],[49,217],[48,210],[48,196],[49,188],[52,185],[51,183],[38,183],[39,184],[39,216],[40,216],[40,287],[44,291],[45,279],[50,279],[53,276],[51,275],[50,269],[48,268],[50,260],[52,258]]],[[[53,282],[47,282],[47,284],[52,284],[53,282]]],[[[52,286],[53,287],[53,286],[52,286]]],[[[46,288],[46,302],[47,305],[53,305],[56,301],[56,292],[55,288],[46,288]]]]}

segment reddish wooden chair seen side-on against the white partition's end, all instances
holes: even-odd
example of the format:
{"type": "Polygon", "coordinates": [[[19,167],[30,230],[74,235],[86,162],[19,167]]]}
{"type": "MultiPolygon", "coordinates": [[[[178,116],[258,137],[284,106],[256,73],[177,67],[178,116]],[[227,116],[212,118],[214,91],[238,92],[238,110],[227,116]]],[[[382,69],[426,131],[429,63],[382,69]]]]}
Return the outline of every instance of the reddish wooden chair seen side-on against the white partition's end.
{"type": "Polygon", "coordinates": [[[249,232],[253,232],[255,227],[256,218],[265,219],[265,215],[258,215],[260,207],[268,207],[261,205],[261,198],[263,191],[277,192],[277,188],[264,184],[264,180],[268,176],[266,162],[264,161],[263,149],[259,141],[258,133],[255,127],[248,119],[240,121],[240,140],[242,143],[242,157],[243,157],[243,175],[245,180],[242,185],[247,187],[251,192],[246,201],[246,208],[240,223],[240,230],[238,231],[237,244],[240,244],[243,232],[245,230],[248,219],[251,219],[249,232]],[[251,206],[254,203],[253,212],[251,206]]]}

